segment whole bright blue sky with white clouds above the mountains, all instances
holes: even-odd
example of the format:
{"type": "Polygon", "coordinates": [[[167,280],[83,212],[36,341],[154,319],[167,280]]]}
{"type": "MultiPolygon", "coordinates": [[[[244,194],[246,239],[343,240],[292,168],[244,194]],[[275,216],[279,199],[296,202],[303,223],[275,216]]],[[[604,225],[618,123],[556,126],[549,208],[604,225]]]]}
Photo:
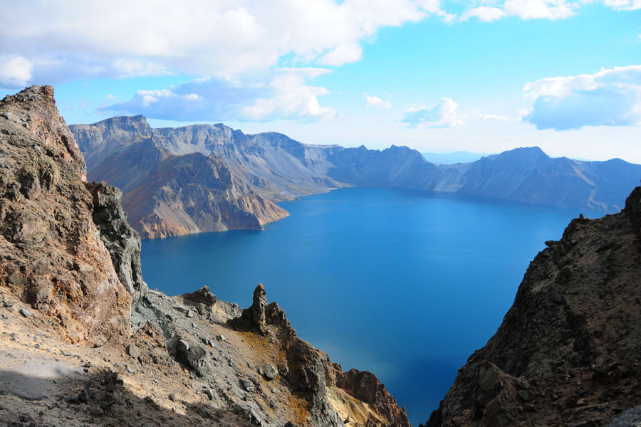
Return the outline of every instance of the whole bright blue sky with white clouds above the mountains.
{"type": "Polygon", "coordinates": [[[68,124],[641,163],[641,0],[0,0],[0,96],[68,124]],[[28,17],[28,18],[26,18],[28,17]]]}

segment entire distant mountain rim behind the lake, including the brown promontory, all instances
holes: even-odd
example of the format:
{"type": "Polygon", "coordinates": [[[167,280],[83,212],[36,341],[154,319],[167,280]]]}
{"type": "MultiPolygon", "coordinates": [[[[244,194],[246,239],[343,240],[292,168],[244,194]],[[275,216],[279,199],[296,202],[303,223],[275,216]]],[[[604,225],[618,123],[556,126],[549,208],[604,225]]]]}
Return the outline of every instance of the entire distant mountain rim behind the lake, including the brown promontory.
{"type": "Polygon", "coordinates": [[[310,145],[222,124],[154,129],[143,116],[72,125],[90,179],[123,189],[143,237],[257,229],[286,216],[272,202],[341,186],[381,186],[615,212],[641,180],[621,159],[585,162],[518,148],[462,164],[416,150],[310,145]]]}

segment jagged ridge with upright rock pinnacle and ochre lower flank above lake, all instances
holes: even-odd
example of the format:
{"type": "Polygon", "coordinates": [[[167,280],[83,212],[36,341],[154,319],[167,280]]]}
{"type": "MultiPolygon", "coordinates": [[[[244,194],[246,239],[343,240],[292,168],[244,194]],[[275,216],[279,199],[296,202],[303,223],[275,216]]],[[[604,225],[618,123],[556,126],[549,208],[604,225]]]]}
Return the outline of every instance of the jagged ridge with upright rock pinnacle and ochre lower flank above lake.
{"type": "MultiPolygon", "coordinates": [[[[228,325],[237,330],[256,331],[281,348],[286,364],[280,369],[281,381],[294,396],[307,403],[306,422],[310,426],[343,426],[350,419],[357,425],[409,427],[407,413],[367,371],[343,372],[327,354],[300,339],[276,302],[267,304],[266,292],[259,284],[251,307],[228,325]]],[[[264,369],[269,379],[275,374],[264,369]]]]}

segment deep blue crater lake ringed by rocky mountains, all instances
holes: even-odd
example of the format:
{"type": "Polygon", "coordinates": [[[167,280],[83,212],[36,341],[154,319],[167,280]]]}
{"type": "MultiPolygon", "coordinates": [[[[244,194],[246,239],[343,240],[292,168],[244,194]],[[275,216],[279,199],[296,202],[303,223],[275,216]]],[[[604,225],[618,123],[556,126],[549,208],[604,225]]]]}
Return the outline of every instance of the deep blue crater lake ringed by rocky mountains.
{"type": "Polygon", "coordinates": [[[263,283],[300,337],[377,374],[415,426],[496,332],[543,242],[579,214],[368,188],[280,205],[291,215],[265,231],[143,241],[145,280],[170,295],[209,285],[242,307],[263,283]]]}

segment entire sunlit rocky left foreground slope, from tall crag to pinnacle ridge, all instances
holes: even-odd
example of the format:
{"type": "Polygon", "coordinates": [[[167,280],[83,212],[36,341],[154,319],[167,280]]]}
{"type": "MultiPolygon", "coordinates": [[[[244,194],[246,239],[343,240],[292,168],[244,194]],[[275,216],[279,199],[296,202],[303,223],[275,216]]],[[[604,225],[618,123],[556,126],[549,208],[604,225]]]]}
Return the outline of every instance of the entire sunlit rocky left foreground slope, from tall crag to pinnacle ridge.
{"type": "Polygon", "coordinates": [[[373,374],[298,338],[264,288],[246,310],[140,275],[118,189],[33,86],[0,101],[0,420],[7,426],[398,426],[373,374]]]}

